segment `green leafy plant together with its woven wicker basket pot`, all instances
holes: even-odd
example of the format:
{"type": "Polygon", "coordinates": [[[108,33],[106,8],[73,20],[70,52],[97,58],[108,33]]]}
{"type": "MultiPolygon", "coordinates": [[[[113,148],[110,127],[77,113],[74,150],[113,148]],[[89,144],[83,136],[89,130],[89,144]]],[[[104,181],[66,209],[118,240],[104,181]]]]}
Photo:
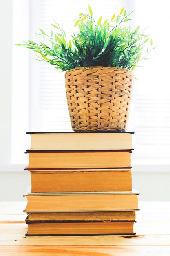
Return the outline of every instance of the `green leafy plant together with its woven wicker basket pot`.
{"type": "Polygon", "coordinates": [[[48,40],[23,44],[43,61],[66,71],[66,96],[74,131],[125,131],[128,124],[134,74],[139,61],[154,48],[149,35],[138,26],[127,25],[131,13],[95,21],[91,7],[80,13],[75,26],[79,31],[66,40],[60,25],[55,32],[38,36],[48,40]],[[150,40],[150,49],[147,42],[150,40]]]}

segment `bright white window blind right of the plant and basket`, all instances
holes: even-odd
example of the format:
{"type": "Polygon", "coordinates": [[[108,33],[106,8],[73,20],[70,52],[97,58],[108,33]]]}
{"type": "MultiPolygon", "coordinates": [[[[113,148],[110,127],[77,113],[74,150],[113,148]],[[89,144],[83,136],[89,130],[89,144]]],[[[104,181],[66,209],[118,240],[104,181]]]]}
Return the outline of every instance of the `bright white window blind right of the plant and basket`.
{"type": "Polygon", "coordinates": [[[135,130],[133,155],[154,164],[169,164],[170,157],[169,8],[167,0],[135,1],[135,24],[146,28],[156,48],[148,55],[150,59],[135,70],[138,80],[131,116],[135,130]]]}

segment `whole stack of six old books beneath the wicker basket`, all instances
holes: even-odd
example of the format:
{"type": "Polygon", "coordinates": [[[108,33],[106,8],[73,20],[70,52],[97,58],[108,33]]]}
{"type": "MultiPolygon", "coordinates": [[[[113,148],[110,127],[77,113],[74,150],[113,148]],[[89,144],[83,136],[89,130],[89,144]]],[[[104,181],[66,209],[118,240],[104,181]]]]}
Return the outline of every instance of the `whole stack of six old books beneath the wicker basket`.
{"type": "Polygon", "coordinates": [[[135,234],[133,132],[30,132],[27,236],[135,234]]]}

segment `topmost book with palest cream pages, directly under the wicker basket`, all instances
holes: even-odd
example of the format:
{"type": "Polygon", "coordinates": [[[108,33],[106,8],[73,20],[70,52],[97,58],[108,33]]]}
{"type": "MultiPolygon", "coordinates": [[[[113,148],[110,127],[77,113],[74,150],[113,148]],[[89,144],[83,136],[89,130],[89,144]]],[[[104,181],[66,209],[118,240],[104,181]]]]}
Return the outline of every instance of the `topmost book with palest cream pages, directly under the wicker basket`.
{"type": "Polygon", "coordinates": [[[134,132],[27,132],[30,150],[132,150],[134,132]]]}

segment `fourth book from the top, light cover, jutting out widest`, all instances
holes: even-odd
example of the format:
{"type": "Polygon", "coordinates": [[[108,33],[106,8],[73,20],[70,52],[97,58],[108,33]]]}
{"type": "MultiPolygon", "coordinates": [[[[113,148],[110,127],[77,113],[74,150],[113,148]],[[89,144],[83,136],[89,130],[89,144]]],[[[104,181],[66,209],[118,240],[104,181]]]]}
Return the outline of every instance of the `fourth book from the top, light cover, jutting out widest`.
{"type": "Polygon", "coordinates": [[[57,192],[31,193],[27,191],[25,212],[74,212],[74,211],[135,211],[138,208],[137,195],[113,192],[57,192]]]}

